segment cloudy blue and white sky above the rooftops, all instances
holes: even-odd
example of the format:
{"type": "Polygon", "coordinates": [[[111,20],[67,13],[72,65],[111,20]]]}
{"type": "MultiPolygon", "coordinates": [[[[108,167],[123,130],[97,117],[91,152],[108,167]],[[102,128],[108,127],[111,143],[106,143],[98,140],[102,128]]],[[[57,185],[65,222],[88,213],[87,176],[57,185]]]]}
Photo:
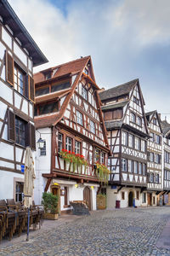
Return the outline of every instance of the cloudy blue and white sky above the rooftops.
{"type": "Polygon", "coordinates": [[[100,88],[139,79],[145,111],[170,121],[169,0],[8,0],[47,67],[91,55],[100,88]]]}

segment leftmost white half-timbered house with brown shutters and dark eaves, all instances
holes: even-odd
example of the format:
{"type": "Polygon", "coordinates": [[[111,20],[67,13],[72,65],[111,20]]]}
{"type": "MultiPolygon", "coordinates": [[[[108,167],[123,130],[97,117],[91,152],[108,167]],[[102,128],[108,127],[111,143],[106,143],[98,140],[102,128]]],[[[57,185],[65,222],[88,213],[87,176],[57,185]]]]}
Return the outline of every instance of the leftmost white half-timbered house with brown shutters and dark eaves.
{"type": "Polygon", "coordinates": [[[36,149],[32,68],[44,62],[8,1],[0,0],[0,199],[22,199],[25,149],[36,149]]]}

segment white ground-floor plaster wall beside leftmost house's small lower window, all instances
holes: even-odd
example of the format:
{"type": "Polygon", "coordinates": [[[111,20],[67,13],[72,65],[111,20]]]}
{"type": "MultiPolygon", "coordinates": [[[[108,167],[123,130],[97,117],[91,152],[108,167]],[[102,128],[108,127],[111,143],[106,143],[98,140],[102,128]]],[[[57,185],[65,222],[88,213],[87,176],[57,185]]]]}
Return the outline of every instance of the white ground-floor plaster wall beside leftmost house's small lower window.
{"type": "Polygon", "coordinates": [[[14,177],[24,178],[24,175],[0,171],[0,199],[14,198],[14,177]]]}

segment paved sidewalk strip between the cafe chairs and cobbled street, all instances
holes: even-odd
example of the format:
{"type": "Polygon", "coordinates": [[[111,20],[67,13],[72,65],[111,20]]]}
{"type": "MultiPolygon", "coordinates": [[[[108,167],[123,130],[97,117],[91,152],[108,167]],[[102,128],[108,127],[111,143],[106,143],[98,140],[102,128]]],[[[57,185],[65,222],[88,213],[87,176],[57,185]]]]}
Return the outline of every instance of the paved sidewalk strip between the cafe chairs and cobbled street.
{"type": "MultiPolygon", "coordinates": [[[[70,223],[70,222],[75,221],[76,219],[82,218],[82,217],[83,216],[65,214],[65,215],[59,216],[59,219],[57,219],[57,220],[44,219],[41,229],[39,229],[39,224],[37,225],[36,230],[33,230],[33,225],[31,225],[29,241],[32,241],[36,236],[41,234],[43,231],[54,230],[62,224],[70,223]]],[[[3,239],[2,241],[0,241],[0,247],[12,246],[12,245],[20,243],[22,241],[26,241],[26,232],[22,233],[20,235],[20,237],[17,236],[17,234],[14,235],[13,238],[11,239],[11,241],[8,241],[8,239],[3,239]]],[[[26,242],[29,243],[29,241],[26,241],[26,242]]]]}

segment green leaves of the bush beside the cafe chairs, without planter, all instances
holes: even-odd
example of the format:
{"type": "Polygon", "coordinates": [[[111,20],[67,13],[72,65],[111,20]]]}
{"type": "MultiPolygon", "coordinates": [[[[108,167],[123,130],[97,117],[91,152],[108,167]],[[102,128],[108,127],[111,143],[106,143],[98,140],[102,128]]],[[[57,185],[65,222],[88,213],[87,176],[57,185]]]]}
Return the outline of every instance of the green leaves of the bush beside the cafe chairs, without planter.
{"type": "Polygon", "coordinates": [[[59,196],[53,195],[52,193],[43,192],[42,194],[42,205],[44,206],[44,211],[49,213],[58,213],[59,196]]]}

